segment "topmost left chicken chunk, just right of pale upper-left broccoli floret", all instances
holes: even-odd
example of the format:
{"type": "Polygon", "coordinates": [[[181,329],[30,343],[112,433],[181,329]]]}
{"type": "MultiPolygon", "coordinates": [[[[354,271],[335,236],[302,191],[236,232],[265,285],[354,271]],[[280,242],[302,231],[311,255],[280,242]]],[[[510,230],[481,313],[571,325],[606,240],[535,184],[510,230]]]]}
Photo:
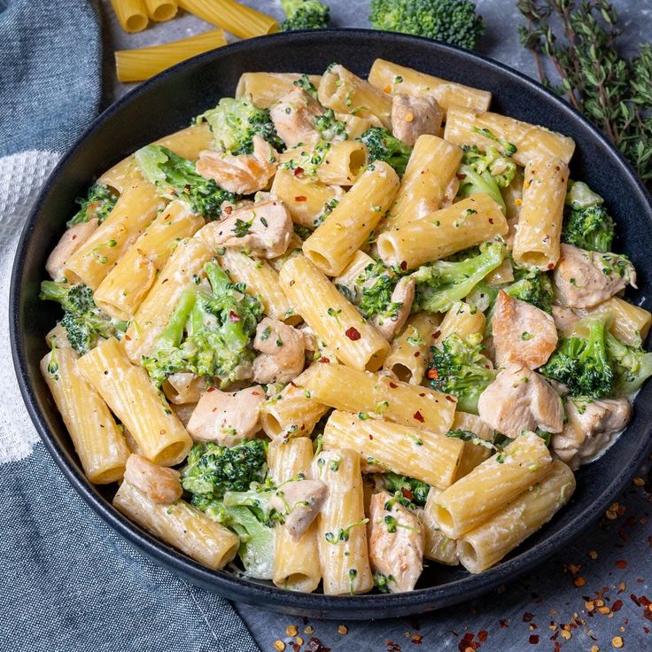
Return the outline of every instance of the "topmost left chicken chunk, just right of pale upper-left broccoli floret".
{"type": "Polygon", "coordinates": [[[269,109],[276,133],[287,147],[312,144],[319,140],[314,119],[322,114],[322,105],[299,88],[292,89],[269,109]]]}

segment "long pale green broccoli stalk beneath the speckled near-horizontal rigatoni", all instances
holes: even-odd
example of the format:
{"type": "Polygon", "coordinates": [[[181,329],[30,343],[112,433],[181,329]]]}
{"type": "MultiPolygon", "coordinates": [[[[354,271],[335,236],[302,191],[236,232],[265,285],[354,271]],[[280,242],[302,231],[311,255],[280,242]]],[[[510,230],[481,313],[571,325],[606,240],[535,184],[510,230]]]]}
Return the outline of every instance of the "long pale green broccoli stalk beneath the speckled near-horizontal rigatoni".
{"type": "Polygon", "coordinates": [[[437,260],[418,268],[412,275],[416,281],[413,310],[445,313],[455,301],[464,299],[507,255],[505,242],[496,238],[480,247],[480,253],[467,260],[437,260]]]}

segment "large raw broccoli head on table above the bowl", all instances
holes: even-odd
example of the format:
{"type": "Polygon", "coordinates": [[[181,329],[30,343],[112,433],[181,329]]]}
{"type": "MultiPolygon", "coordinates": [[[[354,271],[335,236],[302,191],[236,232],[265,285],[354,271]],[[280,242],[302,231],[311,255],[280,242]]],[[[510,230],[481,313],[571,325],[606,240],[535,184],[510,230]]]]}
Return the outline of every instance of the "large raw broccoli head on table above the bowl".
{"type": "Polygon", "coordinates": [[[470,0],[371,0],[369,22],[375,29],[425,36],[473,50],[485,32],[470,0]]]}

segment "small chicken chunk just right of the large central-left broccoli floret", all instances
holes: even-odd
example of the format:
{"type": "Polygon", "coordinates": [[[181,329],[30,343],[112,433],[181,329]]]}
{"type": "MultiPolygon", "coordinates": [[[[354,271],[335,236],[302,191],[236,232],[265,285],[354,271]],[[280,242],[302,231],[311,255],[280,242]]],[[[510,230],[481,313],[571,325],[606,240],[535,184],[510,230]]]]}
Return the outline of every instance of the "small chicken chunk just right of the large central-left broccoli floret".
{"type": "Polygon", "coordinates": [[[256,328],[253,348],[260,351],[253,361],[255,383],[289,383],[303,371],[306,342],[292,326],[265,317],[256,328]]]}

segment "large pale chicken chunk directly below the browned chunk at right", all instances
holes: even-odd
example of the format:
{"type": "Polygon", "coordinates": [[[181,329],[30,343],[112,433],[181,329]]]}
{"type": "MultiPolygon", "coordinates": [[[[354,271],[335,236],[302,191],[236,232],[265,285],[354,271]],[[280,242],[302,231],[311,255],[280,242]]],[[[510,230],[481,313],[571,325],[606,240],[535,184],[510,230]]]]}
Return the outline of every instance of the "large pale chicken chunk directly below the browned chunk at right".
{"type": "Polygon", "coordinates": [[[563,406],[543,376],[517,365],[501,371],[477,401],[480,418],[512,439],[522,431],[561,432],[563,406]]]}

